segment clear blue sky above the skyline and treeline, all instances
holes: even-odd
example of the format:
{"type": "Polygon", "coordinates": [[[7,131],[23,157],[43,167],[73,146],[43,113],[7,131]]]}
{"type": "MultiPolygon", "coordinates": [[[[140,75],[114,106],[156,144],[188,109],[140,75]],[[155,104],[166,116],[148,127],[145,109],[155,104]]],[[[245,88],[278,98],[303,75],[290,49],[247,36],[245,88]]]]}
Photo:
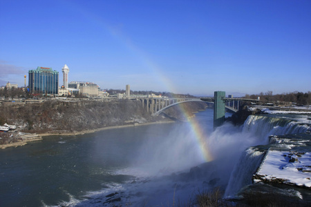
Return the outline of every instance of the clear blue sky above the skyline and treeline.
{"type": "Polygon", "coordinates": [[[0,85],[69,81],[191,95],[311,90],[311,1],[0,0],[0,85]]]}

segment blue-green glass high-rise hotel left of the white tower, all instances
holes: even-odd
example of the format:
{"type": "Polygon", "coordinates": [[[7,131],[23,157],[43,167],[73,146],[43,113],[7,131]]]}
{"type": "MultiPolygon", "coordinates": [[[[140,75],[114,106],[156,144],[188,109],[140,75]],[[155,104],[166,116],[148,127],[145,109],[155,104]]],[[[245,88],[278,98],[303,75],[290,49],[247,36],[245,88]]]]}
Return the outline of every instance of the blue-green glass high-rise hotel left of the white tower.
{"type": "Polygon", "coordinates": [[[28,71],[30,93],[58,94],[59,72],[52,68],[38,67],[28,71]]]}

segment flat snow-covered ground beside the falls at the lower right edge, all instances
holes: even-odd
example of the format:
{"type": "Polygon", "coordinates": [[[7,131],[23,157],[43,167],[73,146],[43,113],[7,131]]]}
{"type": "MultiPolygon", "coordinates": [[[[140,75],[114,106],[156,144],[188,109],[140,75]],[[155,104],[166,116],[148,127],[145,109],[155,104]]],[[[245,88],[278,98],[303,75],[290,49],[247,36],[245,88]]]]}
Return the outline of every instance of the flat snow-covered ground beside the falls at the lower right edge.
{"type": "Polygon", "coordinates": [[[255,177],[311,188],[311,152],[269,150],[255,177]]]}

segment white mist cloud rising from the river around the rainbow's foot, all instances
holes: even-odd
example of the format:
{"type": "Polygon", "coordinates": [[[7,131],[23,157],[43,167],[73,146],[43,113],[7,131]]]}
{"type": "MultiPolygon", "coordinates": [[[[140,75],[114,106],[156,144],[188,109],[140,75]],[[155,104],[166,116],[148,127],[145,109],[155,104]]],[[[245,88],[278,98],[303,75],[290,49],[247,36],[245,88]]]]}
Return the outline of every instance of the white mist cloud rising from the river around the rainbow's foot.
{"type": "Polygon", "coordinates": [[[140,197],[131,196],[131,201],[167,204],[175,197],[185,204],[204,190],[219,187],[225,192],[242,152],[249,146],[264,144],[265,140],[230,123],[214,130],[212,114],[213,110],[206,110],[191,120],[199,123],[204,132],[209,161],[202,156],[191,121],[171,124],[164,136],[158,131],[163,126],[146,130],[131,166],[117,172],[135,177],[126,189],[140,197]]]}

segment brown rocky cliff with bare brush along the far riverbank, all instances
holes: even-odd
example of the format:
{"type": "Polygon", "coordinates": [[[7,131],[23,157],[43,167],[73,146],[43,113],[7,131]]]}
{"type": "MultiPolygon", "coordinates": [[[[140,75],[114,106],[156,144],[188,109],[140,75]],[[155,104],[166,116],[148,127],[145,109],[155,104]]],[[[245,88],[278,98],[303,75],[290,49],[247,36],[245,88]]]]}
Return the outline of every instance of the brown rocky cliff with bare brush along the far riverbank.
{"type": "MultiPolygon", "coordinates": [[[[182,103],[187,115],[204,110],[205,104],[182,103]]],[[[20,126],[24,132],[76,132],[103,128],[142,124],[152,121],[180,119],[180,107],[169,108],[166,115],[153,117],[142,107],[140,101],[44,101],[18,105],[17,103],[0,106],[0,122],[20,126]]],[[[3,124],[3,123],[0,123],[3,124]]]]}

